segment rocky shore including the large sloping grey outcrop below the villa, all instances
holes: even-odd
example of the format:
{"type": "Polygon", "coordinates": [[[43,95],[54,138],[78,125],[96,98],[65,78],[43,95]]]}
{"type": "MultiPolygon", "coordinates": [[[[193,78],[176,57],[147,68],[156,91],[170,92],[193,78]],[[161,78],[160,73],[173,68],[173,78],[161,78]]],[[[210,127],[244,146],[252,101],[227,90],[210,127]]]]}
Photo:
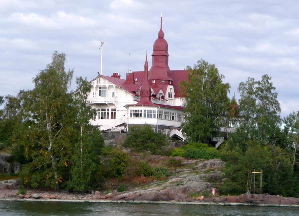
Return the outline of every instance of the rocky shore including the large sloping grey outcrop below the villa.
{"type": "Polygon", "coordinates": [[[164,181],[131,188],[125,192],[89,191],[77,192],[28,189],[17,193],[18,180],[0,181],[0,201],[50,201],[50,202],[112,202],[112,203],[167,203],[224,206],[277,206],[299,207],[299,198],[263,194],[220,196],[216,189],[222,183],[220,171],[225,163],[219,159],[187,160],[183,169],[173,170],[164,181]],[[204,194],[206,196],[204,196],[204,194]],[[193,198],[190,198],[193,197],[193,198]]]}

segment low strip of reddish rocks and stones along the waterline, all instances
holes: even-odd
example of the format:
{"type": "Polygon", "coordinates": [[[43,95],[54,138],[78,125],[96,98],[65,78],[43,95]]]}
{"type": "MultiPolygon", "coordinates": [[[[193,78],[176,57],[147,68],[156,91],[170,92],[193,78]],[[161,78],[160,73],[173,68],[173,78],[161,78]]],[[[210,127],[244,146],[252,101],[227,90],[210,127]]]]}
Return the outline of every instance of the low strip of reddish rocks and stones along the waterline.
{"type": "Polygon", "coordinates": [[[299,207],[299,198],[280,197],[274,195],[260,194],[241,194],[239,196],[226,197],[204,197],[201,200],[196,198],[186,198],[179,200],[177,198],[169,200],[157,192],[146,194],[138,194],[135,196],[118,195],[113,198],[97,199],[94,194],[91,195],[60,195],[57,192],[49,195],[33,194],[25,197],[25,195],[16,195],[15,193],[1,193],[0,201],[25,201],[25,202],[99,202],[99,203],[160,203],[160,204],[187,204],[187,205],[221,205],[221,206],[271,206],[271,207],[299,207]],[[55,198],[53,198],[55,197],[55,198]]]}

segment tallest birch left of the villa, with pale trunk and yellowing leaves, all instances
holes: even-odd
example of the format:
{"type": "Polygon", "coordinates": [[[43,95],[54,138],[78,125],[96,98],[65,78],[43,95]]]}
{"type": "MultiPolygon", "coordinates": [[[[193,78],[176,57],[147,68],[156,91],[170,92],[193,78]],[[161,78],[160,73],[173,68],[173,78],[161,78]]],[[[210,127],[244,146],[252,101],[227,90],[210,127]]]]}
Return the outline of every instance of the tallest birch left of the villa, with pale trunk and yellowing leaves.
{"type": "Polygon", "coordinates": [[[52,62],[33,79],[35,88],[25,93],[24,110],[34,124],[23,139],[25,154],[32,158],[24,167],[24,182],[34,187],[56,186],[59,189],[62,182],[59,167],[70,143],[67,139],[71,113],[68,86],[74,73],[73,70],[65,71],[65,61],[65,54],[55,51],[52,62]]]}

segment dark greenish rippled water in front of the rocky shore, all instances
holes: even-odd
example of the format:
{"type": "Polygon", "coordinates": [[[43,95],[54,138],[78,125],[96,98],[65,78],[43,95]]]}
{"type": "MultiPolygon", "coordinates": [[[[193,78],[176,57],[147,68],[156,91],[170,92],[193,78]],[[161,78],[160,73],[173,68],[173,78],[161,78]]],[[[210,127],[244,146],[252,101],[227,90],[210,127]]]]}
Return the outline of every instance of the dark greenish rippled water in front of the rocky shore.
{"type": "Polygon", "coordinates": [[[0,215],[299,215],[299,208],[0,201],[0,215]]]}

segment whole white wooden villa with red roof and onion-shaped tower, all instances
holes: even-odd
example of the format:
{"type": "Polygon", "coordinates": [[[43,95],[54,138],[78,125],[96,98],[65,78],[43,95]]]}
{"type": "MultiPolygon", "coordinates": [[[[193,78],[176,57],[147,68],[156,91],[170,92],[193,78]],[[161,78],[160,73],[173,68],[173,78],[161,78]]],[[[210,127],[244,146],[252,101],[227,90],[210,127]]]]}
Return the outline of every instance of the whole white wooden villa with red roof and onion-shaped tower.
{"type": "Polygon", "coordinates": [[[112,76],[99,75],[91,81],[87,103],[98,110],[92,125],[109,130],[126,124],[149,124],[162,131],[180,129],[184,120],[185,99],[179,96],[179,82],[187,80],[184,70],[171,71],[168,67],[168,44],[161,28],[154,42],[152,67],[144,71],[112,76]]]}

